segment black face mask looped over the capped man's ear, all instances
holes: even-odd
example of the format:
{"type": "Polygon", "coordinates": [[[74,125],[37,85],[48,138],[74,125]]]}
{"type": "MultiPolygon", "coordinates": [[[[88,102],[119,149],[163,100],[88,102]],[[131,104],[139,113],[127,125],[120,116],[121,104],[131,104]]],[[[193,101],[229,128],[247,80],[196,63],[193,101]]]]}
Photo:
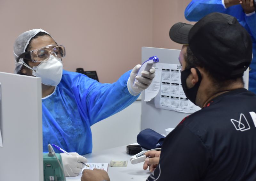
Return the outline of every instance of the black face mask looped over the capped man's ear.
{"type": "Polygon", "coordinates": [[[184,91],[185,95],[187,96],[187,98],[191,102],[193,102],[196,105],[196,94],[197,94],[198,88],[200,86],[202,76],[201,76],[201,73],[199,72],[199,70],[196,67],[192,67],[192,68],[196,69],[196,73],[198,75],[198,82],[195,84],[194,87],[188,89],[187,84],[186,84],[186,80],[187,80],[188,76],[191,73],[191,71],[190,71],[191,68],[185,69],[184,71],[181,71],[181,78],[180,79],[181,79],[181,84],[182,84],[182,88],[183,88],[183,91],[184,91]]]}

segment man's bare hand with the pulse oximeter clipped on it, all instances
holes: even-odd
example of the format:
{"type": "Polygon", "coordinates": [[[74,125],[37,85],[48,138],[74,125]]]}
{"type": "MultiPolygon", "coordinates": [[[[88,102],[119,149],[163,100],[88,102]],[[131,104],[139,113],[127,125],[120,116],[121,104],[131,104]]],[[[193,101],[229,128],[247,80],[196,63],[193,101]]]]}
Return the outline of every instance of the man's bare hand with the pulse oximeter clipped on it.
{"type": "Polygon", "coordinates": [[[156,150],[144,153],[144,155],[146,155],[147,158],[145,159],[145,162],[143,164],[143,169],[147,170],[148,168],[150,172],[153,172],[159,163],[160,153],[161,151],[156,150]]]}

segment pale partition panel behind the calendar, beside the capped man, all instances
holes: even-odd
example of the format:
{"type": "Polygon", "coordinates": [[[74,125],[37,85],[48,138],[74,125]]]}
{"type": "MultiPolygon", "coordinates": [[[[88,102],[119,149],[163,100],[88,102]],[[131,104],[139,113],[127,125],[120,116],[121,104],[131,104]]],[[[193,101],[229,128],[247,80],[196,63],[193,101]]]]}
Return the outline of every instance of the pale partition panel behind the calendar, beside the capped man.
{"type": "MultiPolygon", "coordinates": [[[[157,56],[159,63],[180,64],[178,60],[180,50],[142,47],[141,52],[141,62],[144,62],[149,57],[157,56]]],[[[141,96],[141,130],[150,128],[160,134],[166,134],[166,128],[176,127],[184,117],[189,115],[187,113],[157,109],[154,105],[154,99],[145,102],[143,101],[144,96],[143,91],[141,96]]]]}

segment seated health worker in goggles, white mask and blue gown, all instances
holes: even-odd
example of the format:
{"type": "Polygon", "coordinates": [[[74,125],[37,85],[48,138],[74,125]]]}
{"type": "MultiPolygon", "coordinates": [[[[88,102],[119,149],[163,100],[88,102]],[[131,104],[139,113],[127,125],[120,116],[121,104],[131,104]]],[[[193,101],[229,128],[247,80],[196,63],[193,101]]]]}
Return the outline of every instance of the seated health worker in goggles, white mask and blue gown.
{"type": "Polygon", "coordinates": [[[66,51],[42,29],[18,36],[13,47],[15,73],[42,79],[43,151],[49,143],[72,155],[62,154],[66,176],[76,176],[92,152],[90,126],[134,102],[155,76],[155,69],[137,76],[140,65],[113,84],[102,84],[84,74],[63,70],[66,51]],[[133,82],[136,79],[135,86],[133,82]],[[74,153],[73,153],[74,152],[74,153]],[[78,166],[77,166],[78,165],[78,166]]]}

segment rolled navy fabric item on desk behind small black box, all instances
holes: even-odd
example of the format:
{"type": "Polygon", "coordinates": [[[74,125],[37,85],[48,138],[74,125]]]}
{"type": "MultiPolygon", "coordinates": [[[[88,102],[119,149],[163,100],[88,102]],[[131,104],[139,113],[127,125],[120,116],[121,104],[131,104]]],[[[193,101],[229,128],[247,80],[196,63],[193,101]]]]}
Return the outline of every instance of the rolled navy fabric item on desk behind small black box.
{"type": "Polygon", "coordinates": [[[151,150],[154,148],[161,148],[164,142],[164,138],[165,137],[158,132],[147,128],[138,134],[137,143],[139,143],[140,146],[151,150]]]}

